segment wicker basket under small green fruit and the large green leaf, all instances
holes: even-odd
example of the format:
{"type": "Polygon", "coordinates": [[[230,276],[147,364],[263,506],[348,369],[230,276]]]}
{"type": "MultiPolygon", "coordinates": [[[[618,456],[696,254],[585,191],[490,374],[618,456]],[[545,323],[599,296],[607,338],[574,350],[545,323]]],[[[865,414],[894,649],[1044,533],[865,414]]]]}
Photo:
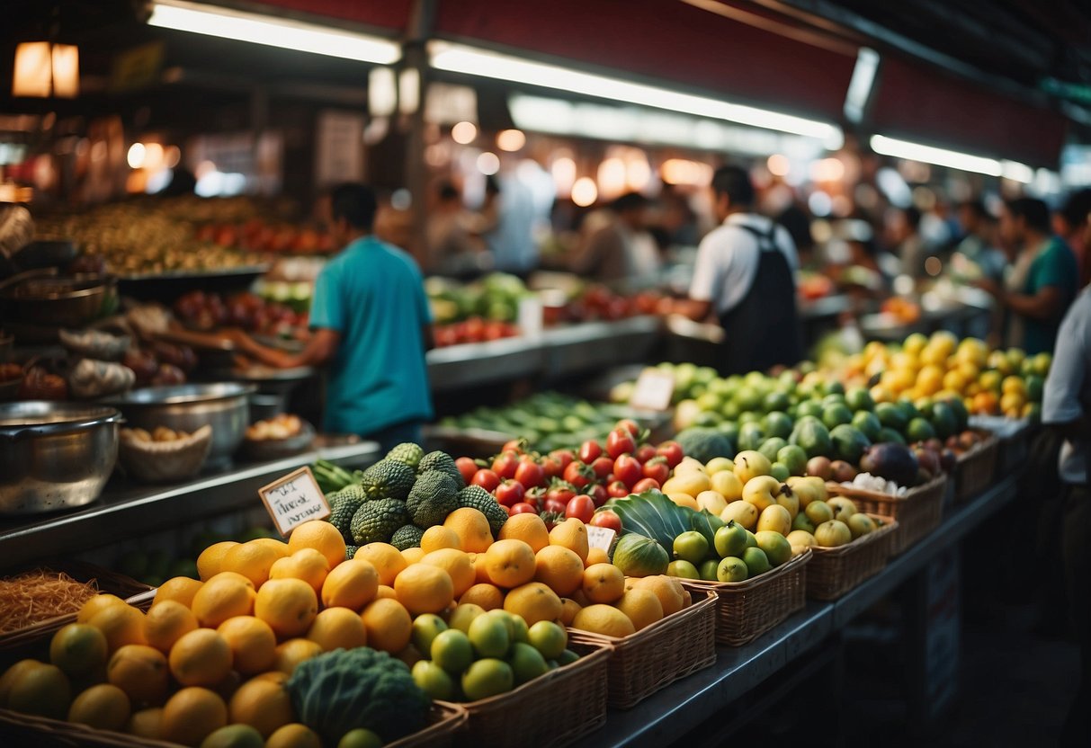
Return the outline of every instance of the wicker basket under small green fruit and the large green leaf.
{"type": "Polygon", "coordinates": [[[716,640],[742,647],[803,607],[811,557],[808,548],[787,564],[743,582],[686,579],[682,584],[716,592],[716,640]]]}

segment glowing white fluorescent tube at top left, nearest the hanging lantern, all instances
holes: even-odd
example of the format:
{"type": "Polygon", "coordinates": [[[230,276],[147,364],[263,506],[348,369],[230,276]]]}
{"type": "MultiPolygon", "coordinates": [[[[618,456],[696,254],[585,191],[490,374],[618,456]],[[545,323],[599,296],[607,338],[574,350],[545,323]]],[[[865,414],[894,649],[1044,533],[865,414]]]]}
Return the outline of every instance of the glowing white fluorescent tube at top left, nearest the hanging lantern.
{"type": "Polygon", "coordinates": [[[401,57],[396,43],[377,36],[183,0],[156,2],[148,25],[375,64],[401,57]]]}

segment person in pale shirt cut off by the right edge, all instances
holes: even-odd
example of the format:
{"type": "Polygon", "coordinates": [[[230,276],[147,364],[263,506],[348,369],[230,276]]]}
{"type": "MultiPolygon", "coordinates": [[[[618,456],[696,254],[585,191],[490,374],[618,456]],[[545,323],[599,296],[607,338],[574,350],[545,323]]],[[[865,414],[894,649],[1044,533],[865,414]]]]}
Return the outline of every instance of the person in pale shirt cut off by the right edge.
{"type": "MultiPolygon", "coordinates": [[[[1059,471],[1064,488],[1065,584],[1080,644],[1080,684],[1062,733],[1062,746],[1091,746],[1091,290],[1084,289],[1060,325],[1045,382],[1042,421],[1064,437],[1059,471]]],[[[1056,526],[1054,526],[1056,527],[1056,526]]]]}

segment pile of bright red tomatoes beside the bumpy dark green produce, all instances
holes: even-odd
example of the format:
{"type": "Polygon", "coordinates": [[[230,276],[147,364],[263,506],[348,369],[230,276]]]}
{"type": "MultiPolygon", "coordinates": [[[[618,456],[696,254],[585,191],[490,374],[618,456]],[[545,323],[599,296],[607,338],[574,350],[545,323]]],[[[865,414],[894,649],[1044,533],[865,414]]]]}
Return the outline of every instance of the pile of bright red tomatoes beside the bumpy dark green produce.
{"type": "Polygon", "coordinates": [[[659,490],[684,457],[676,442],[658,446],[636,422],[619,421],[604,443],[588,439],[576,449],[527,451],[526,442],[508,442],[492,460],[456,460],[467,485],[496,497],[508,515],[535,514],[549,529],[565,519],[621,532],[613,511],[596,511],[611,498],[659,490]]]}

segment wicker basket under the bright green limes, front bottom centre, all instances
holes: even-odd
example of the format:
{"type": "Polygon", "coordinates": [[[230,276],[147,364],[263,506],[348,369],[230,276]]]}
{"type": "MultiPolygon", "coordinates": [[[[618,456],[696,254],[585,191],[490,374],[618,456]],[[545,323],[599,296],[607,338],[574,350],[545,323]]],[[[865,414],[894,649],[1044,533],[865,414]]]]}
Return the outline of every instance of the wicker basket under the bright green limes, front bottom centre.
{"type": "Polygon", "coordinates": [[[563,746],[606,724],[607,662],[613,648],[604,642],[573,642],[573,647],[582,656],[571,665],[507,693],[460,704],[469,721],[455,736],[455,745],[563,746]]]}

